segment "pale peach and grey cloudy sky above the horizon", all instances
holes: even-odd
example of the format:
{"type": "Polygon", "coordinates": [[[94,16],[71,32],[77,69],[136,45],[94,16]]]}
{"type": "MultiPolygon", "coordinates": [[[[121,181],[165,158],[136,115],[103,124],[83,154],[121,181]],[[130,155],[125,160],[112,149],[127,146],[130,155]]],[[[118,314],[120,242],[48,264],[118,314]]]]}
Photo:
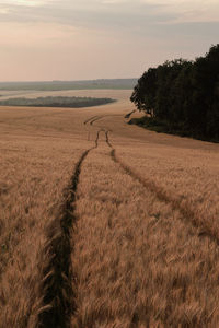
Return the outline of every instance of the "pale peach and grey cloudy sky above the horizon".
{"type": "Polygon", "coordinates": [[[0,0],[0,81],[139,78],[219,43],[219,0],[0,0]]]}

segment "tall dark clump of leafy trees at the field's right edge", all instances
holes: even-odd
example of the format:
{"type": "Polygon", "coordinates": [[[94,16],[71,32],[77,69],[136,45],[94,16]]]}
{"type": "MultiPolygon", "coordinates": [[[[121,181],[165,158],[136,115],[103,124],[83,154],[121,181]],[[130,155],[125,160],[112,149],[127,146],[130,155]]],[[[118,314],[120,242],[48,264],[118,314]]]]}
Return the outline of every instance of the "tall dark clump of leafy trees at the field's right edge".
{"type": "Polygon", "coordinates": [[[219,141],[219,44],[195,61],[176,59],[150,68],[130,101],[147,114],[132,124],[219,141]]]}

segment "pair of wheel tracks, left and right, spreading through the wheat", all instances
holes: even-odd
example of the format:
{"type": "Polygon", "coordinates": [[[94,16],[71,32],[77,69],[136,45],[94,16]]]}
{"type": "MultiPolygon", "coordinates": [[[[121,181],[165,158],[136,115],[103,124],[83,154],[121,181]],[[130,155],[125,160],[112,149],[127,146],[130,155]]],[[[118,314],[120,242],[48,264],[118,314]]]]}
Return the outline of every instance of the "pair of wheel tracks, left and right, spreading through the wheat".
{"type": "MultiPolygon", "coordinates": [[[[95,117],[95,120],[96,119],[95,117]]],[[[193,211],[189,207],[182,204],[180,199],[168,195],[168,191],[158,186],[153,180],[143,179],[138,173],[132,171],[117,156],[116,150],[110,140],[110,132],[112,131],[104,128],[100,129],[96,132],[94,147],[84,151],[74,166],[70,186],[66,190],[66,202],[61,208],[60,216],[56,218],[47,230],[48,245],[44,256],[45,254],[48,255],[49,261],[43,272],[44,298],[42,312],[38,315],[38,327],[42,328],[70,328],[71,316],[77,311],[74,301],[76,294],[72,290],[72,284],[76,284],[76,276],[71,267],[70,258],[73,247],[71,233],[73,232],[73,223],[77,221],[77,189],[83,161],[92,150],[99,147],[101,132],[105,133],[105,142],[111,149],[110,154],[112,160],[117,163],[126,174],[155,195],[160,201],[170,203],[173,210],[178,210],[189,224],[192,223],[194,226],[201,229],[203,234],[219,244],[219,233],[214,231],[212,226],[206,224],[206,221],[198,216],[198,213],[193,211]]]]}

